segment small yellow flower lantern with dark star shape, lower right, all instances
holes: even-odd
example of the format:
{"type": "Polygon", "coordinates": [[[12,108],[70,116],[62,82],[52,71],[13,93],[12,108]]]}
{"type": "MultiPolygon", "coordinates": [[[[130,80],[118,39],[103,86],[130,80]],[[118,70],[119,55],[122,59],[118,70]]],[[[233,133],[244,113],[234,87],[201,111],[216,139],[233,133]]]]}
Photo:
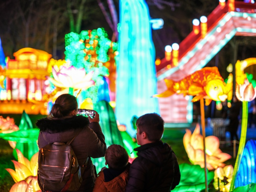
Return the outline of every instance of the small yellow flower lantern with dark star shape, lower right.
{"type": "Polygon", "coordinates": [[[214,171],[214,188],[221,192],[228,192],[232,181],[233,171],[234,168],[232,165],[225,166],[224,168],[218,167],[214,171]]]}

